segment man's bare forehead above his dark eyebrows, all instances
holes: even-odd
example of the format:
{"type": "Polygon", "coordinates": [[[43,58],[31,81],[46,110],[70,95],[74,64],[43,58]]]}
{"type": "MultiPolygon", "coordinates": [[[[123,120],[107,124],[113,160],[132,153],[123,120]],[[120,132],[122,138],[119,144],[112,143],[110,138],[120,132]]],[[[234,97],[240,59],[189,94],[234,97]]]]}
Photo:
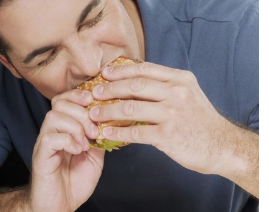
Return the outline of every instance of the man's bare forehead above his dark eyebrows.
{"type": "Polygon", "coordinates": [[[15,51],[25,54],[74,30],[80,13],[91,1],[15,0],[1,8],[0,32],[15,51]]]}

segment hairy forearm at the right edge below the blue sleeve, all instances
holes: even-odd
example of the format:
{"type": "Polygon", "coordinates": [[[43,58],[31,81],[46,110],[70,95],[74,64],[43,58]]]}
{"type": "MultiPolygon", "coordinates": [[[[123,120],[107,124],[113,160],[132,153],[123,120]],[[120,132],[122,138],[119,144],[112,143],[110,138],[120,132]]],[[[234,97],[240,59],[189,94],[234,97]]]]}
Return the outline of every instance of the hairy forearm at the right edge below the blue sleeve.
{"type": "Polygon", "coordinates": [[[259,197],[259,135],[227,121],[219,174],[259,197]]]}

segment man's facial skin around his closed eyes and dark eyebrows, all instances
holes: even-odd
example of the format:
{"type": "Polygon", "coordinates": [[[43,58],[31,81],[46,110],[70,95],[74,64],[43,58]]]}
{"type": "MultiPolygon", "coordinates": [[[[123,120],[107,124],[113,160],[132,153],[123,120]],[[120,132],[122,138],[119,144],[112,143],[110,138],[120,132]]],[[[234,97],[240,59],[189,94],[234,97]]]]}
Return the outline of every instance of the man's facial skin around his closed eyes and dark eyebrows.
{"type": "MultiPolygon", "coordinates": [[[[102,65],[121,54],[144,60],[143,28],[133,1],[122,1],[123,5],[121,5],[119,0],[100,0],[100,4],[105,5],[102,21],[92,28],[83,28],[79,32],[73,25],[75,26],[79,14],[85,5],[91,2],[90,0],[83,0],[80,4],[75,0],[68,0],[68,2],[55,0],[53,4],[51,1],[41,0],[31,0],[30,4],[29,1],[17,0],[12,3],[4,10],[6,14],[0,15],[2,19],[4,15],[9,14],[9,19],[6,19],[6,22],[0,22],[8,26],[4,33],[14,45],[14,51],[10,54],[14,66],[46,97],[52,98],[74,88],[85,78],[98,74],[97,70],[102,65]],[[79,9],[74,10],[74,8],[79,9]],[[125,9],[127,12],[123,11],[125,9]],[[70,15],[70,12],[73,15],[70,15]],[[48,14],[51,15],[48,16],[48,14]],[[17,36],[18,34],[22,36],[17,36]],[[79,39],[69,39],[70,37],[79,39]],[[84,47],[86,46],[87,49],[79,49],[80,47],[76,45],[83,43],[82,38],[84,47]],[[71,42],[66,42],[68,39],[72,40],[74,46],[76,45],[75,48],[71,46],[71,42]],[[60,46],[58,48],[60,51],[57,52],[54,61],[47,67],[37,70],[24,66],[22,60],[25,55],[47,43],[56,43],[60,46]],[[91,62],[92,53],[97,56],[95,56],[95,61],[91,62]],[[82,60],[87,56],[89,61],[82,60]]],[[[96,11],[88,19],[94,17],[99,9],[96,11]]],[[[44,55],[46,58],[50,53],[44,55]]]]}

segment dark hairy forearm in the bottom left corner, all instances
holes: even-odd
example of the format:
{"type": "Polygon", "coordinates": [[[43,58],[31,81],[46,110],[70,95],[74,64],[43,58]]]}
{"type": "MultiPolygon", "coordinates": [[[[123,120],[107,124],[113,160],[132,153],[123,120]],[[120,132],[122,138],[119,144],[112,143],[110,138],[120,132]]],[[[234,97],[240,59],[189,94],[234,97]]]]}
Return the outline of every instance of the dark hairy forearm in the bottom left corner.
{"type": "Polygon", "coordinates": [[[29,212],[29,191],[26,187],[12,191],[0,190],[0,211],[29,212]]]}

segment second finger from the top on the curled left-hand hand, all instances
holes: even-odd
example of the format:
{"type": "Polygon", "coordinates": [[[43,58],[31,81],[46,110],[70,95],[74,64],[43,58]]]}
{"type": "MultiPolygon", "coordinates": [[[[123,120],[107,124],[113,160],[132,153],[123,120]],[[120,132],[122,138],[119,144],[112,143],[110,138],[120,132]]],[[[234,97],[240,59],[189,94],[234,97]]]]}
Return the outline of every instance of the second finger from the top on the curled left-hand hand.
{"type": "Polygon", "coordinates": [[[88,138],[95,139],[99,135],[98,128],[91,121],[88,110],[78,104],[69,102],[66,99],[59,99],[54,103],[53,109],[78,121],[84,128],[88,138]]]}

